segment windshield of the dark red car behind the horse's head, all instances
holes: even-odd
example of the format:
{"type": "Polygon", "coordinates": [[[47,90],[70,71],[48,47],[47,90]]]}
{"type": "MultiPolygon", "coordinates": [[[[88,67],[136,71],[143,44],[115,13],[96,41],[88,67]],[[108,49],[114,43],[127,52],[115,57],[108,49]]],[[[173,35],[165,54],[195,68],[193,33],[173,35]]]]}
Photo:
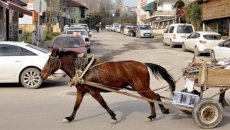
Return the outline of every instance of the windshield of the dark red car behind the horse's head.
{"type": "Polygon", "coordinates": [[[84,40],[80,37],[59,37],[54,41],[54,48],[83,47],[84,40]]]}

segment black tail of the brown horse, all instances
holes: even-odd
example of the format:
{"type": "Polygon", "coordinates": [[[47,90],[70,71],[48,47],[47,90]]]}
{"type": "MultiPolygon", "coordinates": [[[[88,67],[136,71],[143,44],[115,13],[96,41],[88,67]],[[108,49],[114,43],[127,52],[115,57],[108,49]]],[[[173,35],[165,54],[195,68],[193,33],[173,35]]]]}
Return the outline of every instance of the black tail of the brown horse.
{"type": "Polygon", "coordinates": [[[156,78],[158,77],[163,78],[169,84],[169,87],[173,93],[173,91],[175,90],[175,80],[168,73],[168,71],[162,66],[157,64],[145,63],[145,65],[147,65],[152,70],[152,73],[156,76],[156,78]]]}

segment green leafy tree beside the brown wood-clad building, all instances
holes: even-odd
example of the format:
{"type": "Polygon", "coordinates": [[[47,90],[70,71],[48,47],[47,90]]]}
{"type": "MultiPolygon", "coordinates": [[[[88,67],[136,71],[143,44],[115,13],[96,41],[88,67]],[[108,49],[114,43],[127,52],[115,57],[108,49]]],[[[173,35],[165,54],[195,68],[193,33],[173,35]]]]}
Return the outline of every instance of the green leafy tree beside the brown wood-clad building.
{"type": "Polygon", "coordinates": [[[191,22],[196,30],[201,27],[201,7],[198,2],[192,2],[186,7],[186,21],[191,22]]]}

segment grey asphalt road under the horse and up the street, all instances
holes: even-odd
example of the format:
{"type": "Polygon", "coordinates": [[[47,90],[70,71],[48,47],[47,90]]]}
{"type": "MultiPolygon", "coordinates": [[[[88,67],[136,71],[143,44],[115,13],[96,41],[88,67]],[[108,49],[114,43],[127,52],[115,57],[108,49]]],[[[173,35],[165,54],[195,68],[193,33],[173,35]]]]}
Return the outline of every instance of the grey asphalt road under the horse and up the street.
{"type": "MultiPolygon", "coordinates": [[[[104,61],[137,60],[152,62],[165,67],[175,79],[182,75],[193,58],[193,53],[182,52],[180,47],[163,46],[161,38],[137,39],[115,32],[93,32],[92,53],[104,61]]],[[[208,60],[208,55],[199,58],[208,60]]],[[[151,88],[166,85],[163,80],[151,77],[151,88]]],[[[177,82],[176,90],[183,89],[184,80],[177,82]]],[[[145,101],[118,95],[102,94],[109,107],[117,114],[118,123],[111,124],[107,112],[89,95],[86,95],[71,123],[63,124],[75,102],[76,89],[70,88],[66,80],[46,81],[40,89],[25,89],[18,84],[1,84],[0,88],[0,130],[194,130],[200,129],[191,116],[173,109],[163,115],[157,107],[157,117],[150,123],[144,120],[150,114],[145,101]]],[[[210,89],[209,96],[218,92],[210,89]]],[[[169,92],[157,91],[169,96],[169,92]]],[[[229,100],[229,92],[226,93],[229,100]]],[[[217,99],[217,98],[214,98],[217,99]]],[[[223,121],[216,129],[230,127],[230,110],[223,111],[223,121]]]]}

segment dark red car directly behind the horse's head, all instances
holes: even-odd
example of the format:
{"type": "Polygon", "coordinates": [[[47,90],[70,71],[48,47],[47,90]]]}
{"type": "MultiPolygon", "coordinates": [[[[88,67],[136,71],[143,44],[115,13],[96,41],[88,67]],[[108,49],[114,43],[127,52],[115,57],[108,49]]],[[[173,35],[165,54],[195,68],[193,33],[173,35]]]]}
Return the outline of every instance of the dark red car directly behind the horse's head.
{"type": "Polygon", "coordinates": [[[86,53],[85,41],[81,35],[77,34],[58,35],[49,44],[49,48],[59,48],[63,51],[74,51],[78,54],[86,53]]]}

